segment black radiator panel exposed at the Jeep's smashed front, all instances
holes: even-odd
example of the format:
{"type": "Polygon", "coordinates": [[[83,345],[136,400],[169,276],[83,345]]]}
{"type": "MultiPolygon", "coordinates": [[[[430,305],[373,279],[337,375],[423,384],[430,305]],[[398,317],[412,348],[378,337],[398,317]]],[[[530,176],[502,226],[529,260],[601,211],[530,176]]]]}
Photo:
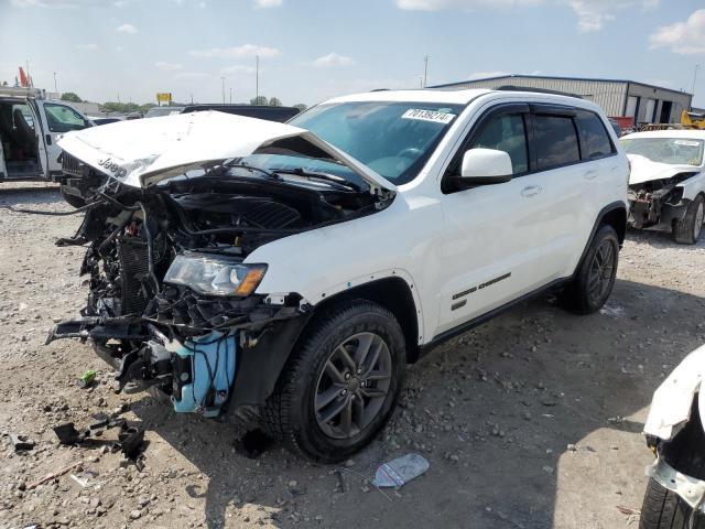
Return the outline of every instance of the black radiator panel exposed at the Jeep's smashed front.
{"type": "Polygon", "coordinates": [[[149,300],[142,280],[149,273],[147,242],[135,238],[118,239],[122,293],[122,314],[142,314],[149,300]]]}

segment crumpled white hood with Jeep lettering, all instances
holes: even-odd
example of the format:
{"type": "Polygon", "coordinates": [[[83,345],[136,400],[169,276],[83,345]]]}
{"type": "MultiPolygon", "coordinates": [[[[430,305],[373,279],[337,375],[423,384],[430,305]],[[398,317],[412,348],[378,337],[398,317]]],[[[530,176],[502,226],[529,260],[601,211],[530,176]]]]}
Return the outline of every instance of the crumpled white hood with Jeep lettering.
{"type": "Polygon", "coordinates": [[[305,129],[215,110],[91,127],[68,132],[57,143],[123,184],[147,187],[207,163],[276,149],[278,142],[295,138],[350,168],[372,193],[395,191],[394,184],[373,170],[305,129]]]}

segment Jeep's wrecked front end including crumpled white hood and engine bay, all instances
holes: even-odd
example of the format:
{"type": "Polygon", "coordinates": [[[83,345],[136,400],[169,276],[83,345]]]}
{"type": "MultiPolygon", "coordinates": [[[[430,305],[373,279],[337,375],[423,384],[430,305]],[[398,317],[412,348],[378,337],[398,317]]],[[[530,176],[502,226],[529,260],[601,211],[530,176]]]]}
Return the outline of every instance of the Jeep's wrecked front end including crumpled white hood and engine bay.
{"type": "Polygon", "coordinates": [[[312,313],[296,292],[257,294],[267,266],[246,257],[389,199],[366,168],[312,133],[219,112],[99,127],[61,147],[63,192],[85,202],[85,217],[57,244],[87,246],[89,293],[82,317],[57,324],[47,343],[90,338],[120,390],[155,387],[177,412],[212,418],[265,401],[312,313]],[[272,153],[343,164],[368,185],[242,162],[272,153]]]}

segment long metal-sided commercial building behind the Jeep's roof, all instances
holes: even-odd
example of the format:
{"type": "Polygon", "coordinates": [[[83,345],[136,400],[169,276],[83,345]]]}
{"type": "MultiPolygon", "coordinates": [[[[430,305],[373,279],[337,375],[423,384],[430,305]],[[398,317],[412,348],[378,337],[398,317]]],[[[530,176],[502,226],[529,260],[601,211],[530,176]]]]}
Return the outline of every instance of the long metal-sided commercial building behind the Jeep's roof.
{"type": "Polygon", "coordinates": [[[609,117],[623,126],[641,123],[675,123],[681,112],[691,108],[692,94],[623,79],[549,77],[536,75],[502,75],[434,86],[457,88],[538,88],[561,91],[595,101],[609,117]]]}

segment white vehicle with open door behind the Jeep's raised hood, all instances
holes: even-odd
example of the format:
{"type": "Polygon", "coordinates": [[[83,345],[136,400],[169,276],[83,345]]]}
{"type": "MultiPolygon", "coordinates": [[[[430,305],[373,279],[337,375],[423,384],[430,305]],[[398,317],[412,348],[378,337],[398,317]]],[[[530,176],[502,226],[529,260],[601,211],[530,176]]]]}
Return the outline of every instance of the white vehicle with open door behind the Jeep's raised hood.
{"type": "Polygon", "coordinates": [[[0,182],[62,175],[59,134],[93,123],[66,101],[36,88],[0,87],[0,182]]]}

